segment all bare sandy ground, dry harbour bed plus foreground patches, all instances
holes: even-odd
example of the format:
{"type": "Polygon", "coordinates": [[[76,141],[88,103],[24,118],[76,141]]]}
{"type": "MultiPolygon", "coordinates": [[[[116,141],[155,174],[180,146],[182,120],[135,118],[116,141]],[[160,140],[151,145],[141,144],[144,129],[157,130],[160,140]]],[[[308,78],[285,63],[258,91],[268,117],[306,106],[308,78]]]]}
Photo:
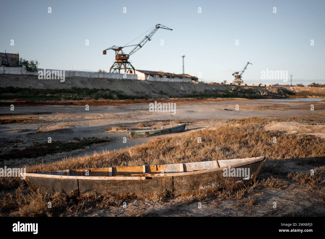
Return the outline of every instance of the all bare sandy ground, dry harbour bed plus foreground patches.
{"type": "MultiPolygon", "coordinates": [[[[313,114],[325,112],[324,101],[266,101],[266,100],[225,100],[214,102],[176,102],[176,114],[168,112],[149,112],[148,104],[120,106],[91,106],[85,111],[83,106],[17,106],[15,111],[9,107],[0,107],[1,118],[35,118],[40,123],[3,124],[0,125],[0,145],[2,153],[13,147],[23,148],[32,142],[52,140],[68,141],[74,138],[108,137],[109,142],[93,144],[85,149],[72,152],[56,153],[39,158],[8,160],[0,165],[22,166],[34,163],[52,163],[64,157],[92,154],[94,151],[111,151],[125,149],[146,143],[149,140],[189,134],[195,130],[218,127],[225,119],[274,115],[313,114]],[[310,105],[314,105],[314,111],[310,105]],[[239,111],[236,111],[236,106],[239,111]],[[127,129],[140,128],[138,123],[150,123],[151,126],[187,123],[186,130],[181,133],[148,138],[130,139],[127,130],[110,131],[110,127],[124,126],[127,129]],[[127,142],[123,143],[123,137],[127,142]]],[[[266,125],[265,130],[283,131],[285,133],[307,133],[325,138],[325,127],[321,124],[287,122],[266,125]]],[[[275,164],[282,171],[281,180],[286,179],[288,172],[306,172],[311,165],[299,165],[294,160],[268,160],[266,164],[275,164]],[[280,166],[277,164],[280,163],[280,166]]],[[[267,179],[270,173],[260,173],[259,180],[267,179]]],[[[324,216],[324,187],[308,188],[289,180],[287,188],[260,188],[253,190],[240,199],[191,200],[191,197],[163,198],[159,200],[142,199],[128,201],[128,207],[113,209],[92,208],[83,216],[116,216],[129,211],[145,209],[143,216],[324,216]],[[247,200],[254,199],[252,205],[247,200]],[[201,207],[198,207],[201,203],[201,207]],[[277,208],[273,208],[277,203],[277,208]]]]}

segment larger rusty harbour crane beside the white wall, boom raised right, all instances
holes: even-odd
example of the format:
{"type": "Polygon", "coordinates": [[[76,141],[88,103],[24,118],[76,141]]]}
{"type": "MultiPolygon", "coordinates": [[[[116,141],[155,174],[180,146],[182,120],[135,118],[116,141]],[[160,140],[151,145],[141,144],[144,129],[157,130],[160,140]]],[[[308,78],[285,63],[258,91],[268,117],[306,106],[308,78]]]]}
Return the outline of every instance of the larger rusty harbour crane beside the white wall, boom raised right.
{"type": "MultiPolygon", "coordinates": [[[[167,30],[171,30],[173,31],[173,29],[166,27],[162,24],[157,24],[156,26],[154,26],[154,29],[145,36],[145,38],[142,39],[142,41],[140,41],[139,44],[136,45],[129,45],[129,46],[135,46],[132,51],[130,51],[129,54],[126,54],[123,52],[123,48],[124,47],[129,47],[129,46],[111,46],[109,48],[107,48],[106,50],[103,50],[103,54],[106,55],[106,51],[107,50],[114,50],[115,51],[115,62],[113,63],[113,65],[110,67],[110,73],[120,73],[121,69],[124,69],[124,73],[128,73],[130,71],[130,73],[135,74],[135,69],[132,66],[132,64],[129,62],[129,57],[135,53],[137,50],[139,50],[147,41],[151,40],[152,35],[157,32],[157,30],[159,28],[162,29],[167,29],[167,30]]],[[[149,30],[151,30],[152,28],[150,28],[149,30]]],[[[149,31],[148,30],[148,31],[149,31]]],[[[148,32],[147,31],[147,32],[148,32]]],[[[143,35],[143,34],[142,34],[143,35]]],[[[141,36],[141,35],[140,35],[141,36]]],[[[138,37],[137,37],[138,38],[138,37]]],[[[132,41],[131,41],[132,42],[132,41]]]]}

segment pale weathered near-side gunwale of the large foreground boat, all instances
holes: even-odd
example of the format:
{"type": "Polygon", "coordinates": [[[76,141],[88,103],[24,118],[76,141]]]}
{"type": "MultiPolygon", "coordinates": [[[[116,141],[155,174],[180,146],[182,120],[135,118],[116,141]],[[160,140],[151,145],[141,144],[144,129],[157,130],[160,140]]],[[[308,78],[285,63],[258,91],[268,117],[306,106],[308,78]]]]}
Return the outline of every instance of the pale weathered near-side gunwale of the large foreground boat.
{"type": "MultiPolygon", "coordinates": [[[[250,158],[250,157],[248,157],[250,158]]],[[[252,157],[255,158],[255,157],[252,157]]],[[[231,159],[230,159],[231,160],[231,159]]],[[[236,168],[240,166],[250,165],[253,163],[257,163],[259,161],[266,160],[266,156],[257,157],[257,159],[253,159],[252,161],[243,162],[236,165],[229,165],[231,168],[236,168]]],[[[204,161],[203,161],[204,162],[204,161]]],[[[67,176],[67,175],[53,175],[53,174],[41,174],[41,172],[31,172],[25,173],[26,177],[37,177],[37,178],[57,178],[57,179],[90,179],[90,180],[145,180],[145,179],[152,179],[152,178],[161,178],[161,177],[174,177],[174,176],[186,176],[186,175],[195,175],[195,174],[202,174],[202,173],[210,173],[221,171],[224,168],[229,166],[217,167],[213,169],[203,169],[197,171],[190,171],[190,172],[177,172],[177,173],[158,173],[158,174],[148,174],[146,176],[67,176]]],[[[23,176],[23,173],[20,173],[23,176]]]]}

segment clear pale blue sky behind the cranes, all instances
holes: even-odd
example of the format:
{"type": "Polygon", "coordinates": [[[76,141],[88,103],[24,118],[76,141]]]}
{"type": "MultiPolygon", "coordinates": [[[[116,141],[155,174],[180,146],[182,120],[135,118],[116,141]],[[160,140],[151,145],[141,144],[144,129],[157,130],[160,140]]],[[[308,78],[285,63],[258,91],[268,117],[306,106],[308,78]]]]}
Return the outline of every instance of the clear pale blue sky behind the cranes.
{"type": "Polygon", "coordinates": [[[130,57],[136,69],[182,73],[184,53],[185,73],[197,76],[201,72],[206,82],[230,82],[233,71],[250,61],[253,65],[243,74],[247,84],[284,84],[261,80],[266,68],[287,70],[293,84],[324,84],[324,11],[325,1],[316,0],[2,0],[0,52],[19,51],[26,60],[38,60],[40,68],[71,70],[73,65],[74,70],[109,71],[114,51],[102,55],[104,49],[124,46],[160,23],[173,31],[159,29],[130,57]]]}

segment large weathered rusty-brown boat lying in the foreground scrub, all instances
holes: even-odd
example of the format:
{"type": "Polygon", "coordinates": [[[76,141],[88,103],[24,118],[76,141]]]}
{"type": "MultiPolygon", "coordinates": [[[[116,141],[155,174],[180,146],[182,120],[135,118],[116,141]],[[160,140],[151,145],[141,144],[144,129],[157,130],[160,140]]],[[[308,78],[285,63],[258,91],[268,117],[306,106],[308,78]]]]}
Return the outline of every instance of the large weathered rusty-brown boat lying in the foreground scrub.
{"type": "Polygon", "coordinates": [[[249,183],[256,178],[265,159],[260,156],[181,164],[28,172],[25,181],[40,193],[63,190],[79,195],[134,193],[138,198],[178,196],[249,183]]]}

